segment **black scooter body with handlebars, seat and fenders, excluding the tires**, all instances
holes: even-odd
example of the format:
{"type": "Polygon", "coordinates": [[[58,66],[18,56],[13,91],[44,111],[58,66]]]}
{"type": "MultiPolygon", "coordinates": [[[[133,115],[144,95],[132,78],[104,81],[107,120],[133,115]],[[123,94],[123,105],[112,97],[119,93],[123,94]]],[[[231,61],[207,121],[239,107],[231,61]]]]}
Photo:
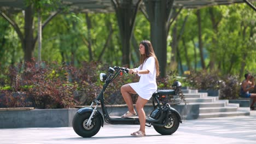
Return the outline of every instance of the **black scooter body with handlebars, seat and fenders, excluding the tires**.
{"type": "MultiPolygon", "coordinates": [[[[80,115],[83,115],[84,113],[91,113],[88,121],[86,122],[86,125],[90,125],[91,124],[91,119],[95,116],[99,116],[101,117],[101,126],[103,127],[103,117],[104,117],[104,121],[106,123],[109,124],[139,124],[139,119],[138,118],[132,118],[132,117],[127,117],[127,118],[111,118],[108,115],[107,109],[106,109],[106,105],[104,103],[104,91],[106,90],[106,88],[108,87],[109,83],[112,82],[114,79],[116,79],[116,77],[118,75],[120,75],[120,73],[124,72],[127,74],[127,69],[126,68],[120,68],[120,67],[115,67],[113,68],[109,68],[109,73],[110,75],[107,77],[104,86],[102,88],[102,91],[100,92],[100,94],[98,94],[97,98],[94,99],[90,105],[90,107],[83,107],[82,109],[79,109],[77,112],[80,115]],[[115,74],[114,71],[116,71],[115,74]],[[93,108],[94,104],[96,104],[96,106],[93,108]],[[101,109],[102,109],[102,113],[103,113],[103,117],[101,115],[101,113],[97,110],[97,107],[101,105],[101,109]]],[[[171,95],[176,95],[178,93],[178,88],[176,87],[175,90],[162,90],[162,91],[158,91],[155,92],[152,97],[153,97],[153,107],[154,110],[155,109],[159,109],[160,113],[160,117],[157,119],[154,119],[152,117],[148,117],[146,119],[146,123],[149,125],[155,125],[158,127],[164,127],[167,124],[167,118],[170,113],[174,113],[178,119],[179,122],[182,123],[182,118],[181,115],[179,115],[179,112],[175,109],[173,109],[173,107],[171,107],[169,104],[165,103],[164,101],[162,101],[162,106],[160,104],[160,100],[161,100],[161,95],[164,94],[171,94],[171,95]],[[156,105],[155,102],[156,101],[156,105]],[[161,124],[161,122],[164,122],[163,124],[161,124]]],[[[153,111],[154,112],[154,111],[153,111]]]]}

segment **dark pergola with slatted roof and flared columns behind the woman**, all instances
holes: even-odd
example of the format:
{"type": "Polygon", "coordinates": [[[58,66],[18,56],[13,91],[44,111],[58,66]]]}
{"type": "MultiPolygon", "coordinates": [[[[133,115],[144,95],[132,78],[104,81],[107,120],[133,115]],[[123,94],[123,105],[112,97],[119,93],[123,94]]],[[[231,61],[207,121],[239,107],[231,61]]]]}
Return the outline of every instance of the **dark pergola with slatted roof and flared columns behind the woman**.
{"type": "MultiPolygon", "coordinates": [[[[25,2],[26,0],[0,0],[0,15],[11,23],[12,21],[8,19],[8,16],[5,15],[2,10],[25,10],[26,13],[26,11],[30,11],[31,9],[26,7],[25,2]]],[[[123,46],[123,64],[130,63],[129,53],[131,35],[137,11],[141,10],[150,23],[150,41],[152,42],[156,56],[159,59],[161,76],[166,75],[167,33],[172,21],[178,14],[174,9],[179,9],[180,11],[183,8],[200,9],[213,5],[229,5],[246,2],[255,10],[255,7],[248,0],[61,0],[61,2],[63,5],[67,5],[70,10],[78,13],[115,13],[117,15],[123,46]]],[[[55,13],[55,15],[56,14],[57,13],[55,13]]],[[[51,19],[55,15],[53,15],[51,19]]],[[[32,26],[29,18],[28,23],[30,23],[29,26],[32,26]]],[[[46,23],[47,21],[45,24],[46,23]]],[[[15,28],[15,25],[13,26],[15,28]]],[[[42,27],[44,26],[45,25],[42,27]]],[[[34,39],[33,34],[31,35],[31,33],[30,36],[25,34],[24,37],[30,37],[28,39],[31,40],[34,39]]],[[[26,41],[26,38],[24,37],[21,35],[20,39],[24,40],[24,49],[27,49],[26,43],[30,40],[26,41]]],[[[32,47],[30,49],[33,49],[35,41],[36,40],[34,39],[33,44],[28,46],[32,47]]]]}

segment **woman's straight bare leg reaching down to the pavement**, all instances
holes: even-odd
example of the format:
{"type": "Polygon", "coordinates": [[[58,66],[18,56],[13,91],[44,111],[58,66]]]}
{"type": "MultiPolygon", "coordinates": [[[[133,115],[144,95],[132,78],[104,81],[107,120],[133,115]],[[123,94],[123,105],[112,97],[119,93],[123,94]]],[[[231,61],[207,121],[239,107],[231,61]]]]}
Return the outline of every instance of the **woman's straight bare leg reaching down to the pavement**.
{"type": "Polygon", "coordinates": [[[143,99],[141,97],[138,97],[137,102],[136,102],[136,110],[138,112],[138,117],[139,117],[139,131],[142,132],[142,134],[145,134],[145,125],[146,125],[146,114],[143,110],[143,107],[145,104],[147,104],[148,100],[143,99]]]}

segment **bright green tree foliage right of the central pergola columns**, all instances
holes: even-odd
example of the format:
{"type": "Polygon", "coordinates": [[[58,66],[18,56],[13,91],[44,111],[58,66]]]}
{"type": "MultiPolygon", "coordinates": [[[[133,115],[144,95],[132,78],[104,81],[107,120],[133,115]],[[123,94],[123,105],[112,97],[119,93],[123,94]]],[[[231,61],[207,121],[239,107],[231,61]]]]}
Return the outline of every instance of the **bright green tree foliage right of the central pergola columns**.
{"type": "MultiPolygon", "coordinates": [[[[181,59],[176,57],[176,61],[182,61],[184,70],[189,70],[192,66],[194,70],[200,70],[202,67],[199,57],[196,10],[183,10],[176,20],[177,29],[178,33],[182,31],[184,19],[188,14],[189,18],[182,35],[185,44],[182,39],[177,41],[181,59]],[[189,61],[186,61],[187,58],[189,61]]],[[[218,70],[218,73],[222,75],[233,74],[240,75],[240,77],[246,72],[256,73],[256,14],[253,9],[246,4],[215,6],[201,9],[201,17],[203,57],[206,69],[208,71],[218,70]],[[214,17],[211,17],[211,10],[214,17]]],[[[175,24],[172,28],[174,26],[175,24]]],[[[172,53],[173,55],[177,56],[177,53],[172,53]]],[[[179,71],[181,71],[180,66],[176,67],[179,71]]]]}

